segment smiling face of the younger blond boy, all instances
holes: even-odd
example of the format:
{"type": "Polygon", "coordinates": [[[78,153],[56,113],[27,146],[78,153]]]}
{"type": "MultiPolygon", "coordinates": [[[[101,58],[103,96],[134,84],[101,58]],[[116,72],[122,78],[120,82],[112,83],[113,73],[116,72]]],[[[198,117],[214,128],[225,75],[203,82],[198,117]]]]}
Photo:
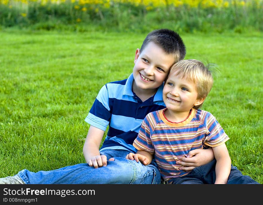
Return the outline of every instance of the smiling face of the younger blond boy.
{"type": "Polygon", "coordinates": [[[204,99],[198,99],[197,84],[194,80],[173,73],[169,74],[165,82],[163,101],[169,111],[185,112],[187,116],[189,111],[204,102],[204,99]]]}

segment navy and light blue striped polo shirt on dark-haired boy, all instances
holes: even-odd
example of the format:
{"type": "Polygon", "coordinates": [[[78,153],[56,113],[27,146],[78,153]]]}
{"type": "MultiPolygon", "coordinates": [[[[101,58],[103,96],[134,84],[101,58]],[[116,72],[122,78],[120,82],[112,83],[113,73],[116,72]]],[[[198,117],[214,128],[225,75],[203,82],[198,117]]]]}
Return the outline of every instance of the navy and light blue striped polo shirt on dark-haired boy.
{"type": "Polygon", "coordinates": [[[163,85],[154,96],[142,102],[132,91],[133,80],[131,74],[128,79],[104,85],[85,118],[85,122],[103,131],[109,126],[100,151],[124,149],[136,153],[137,149],[132,144],[143,119],[148,113],[165,108],[163,85]]]}

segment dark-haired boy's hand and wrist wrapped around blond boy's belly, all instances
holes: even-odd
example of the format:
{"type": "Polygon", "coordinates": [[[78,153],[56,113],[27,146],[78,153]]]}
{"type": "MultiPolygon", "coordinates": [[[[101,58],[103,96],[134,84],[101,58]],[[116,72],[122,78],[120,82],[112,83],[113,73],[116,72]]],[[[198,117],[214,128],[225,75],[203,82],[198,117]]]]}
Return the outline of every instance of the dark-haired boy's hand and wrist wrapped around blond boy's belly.
{"type": "Polygon", "coordinates": [[[190,151],[187,157],[178,157],[176,164],[183,165],[180,170],[192,171],[195,167],[207,164],[214,159],[212,148],[209,149],[194,149],[190,151]]]}

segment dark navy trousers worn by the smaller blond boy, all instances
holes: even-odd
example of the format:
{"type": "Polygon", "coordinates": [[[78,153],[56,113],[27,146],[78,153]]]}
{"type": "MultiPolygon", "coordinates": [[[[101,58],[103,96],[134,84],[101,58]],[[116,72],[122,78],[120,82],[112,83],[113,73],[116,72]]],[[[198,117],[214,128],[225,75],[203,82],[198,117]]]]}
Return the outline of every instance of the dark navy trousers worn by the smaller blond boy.
{"type": "MultiPolygon", "coordinates": [[[[212,160],[203,166],[198,166],[188,175],[174,178],[173,184],[214,184],[215,183],[215,164],[212,160]]],[[[231,165],[230,175],[227,184],[259,184],[248,175],[242,173],[231,165]]]]}

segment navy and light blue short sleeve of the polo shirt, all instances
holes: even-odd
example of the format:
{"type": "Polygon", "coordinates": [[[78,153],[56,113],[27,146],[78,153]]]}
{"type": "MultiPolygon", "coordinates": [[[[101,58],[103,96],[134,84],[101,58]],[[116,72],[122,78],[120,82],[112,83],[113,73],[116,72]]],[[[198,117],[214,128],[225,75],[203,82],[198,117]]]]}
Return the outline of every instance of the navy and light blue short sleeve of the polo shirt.
{"type": "Polygon", "coordinates": [[[110,119],[111,119],[111,111],[109,108],[108,89],[107,86],[104,85],[100,89],[88,113],[88,116],[85,118],[85,122],[105,131],[109,124],[110,119]]]}

